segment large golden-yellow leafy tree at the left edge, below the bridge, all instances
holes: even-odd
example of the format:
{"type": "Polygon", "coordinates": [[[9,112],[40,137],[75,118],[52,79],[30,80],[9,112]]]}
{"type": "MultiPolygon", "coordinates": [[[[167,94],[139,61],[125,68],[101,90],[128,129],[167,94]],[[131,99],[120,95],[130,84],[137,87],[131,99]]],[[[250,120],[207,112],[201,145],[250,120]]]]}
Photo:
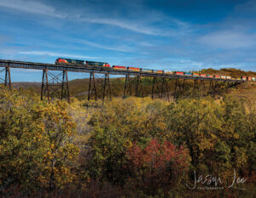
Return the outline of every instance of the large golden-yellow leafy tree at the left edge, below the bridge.
{"type": "Polygon", "coordinates": [[[75,123],[61,102],[3,90],[0,93],[0,185],[26,192],[73,181],[79,153],[72,143],[75,123]]]}

